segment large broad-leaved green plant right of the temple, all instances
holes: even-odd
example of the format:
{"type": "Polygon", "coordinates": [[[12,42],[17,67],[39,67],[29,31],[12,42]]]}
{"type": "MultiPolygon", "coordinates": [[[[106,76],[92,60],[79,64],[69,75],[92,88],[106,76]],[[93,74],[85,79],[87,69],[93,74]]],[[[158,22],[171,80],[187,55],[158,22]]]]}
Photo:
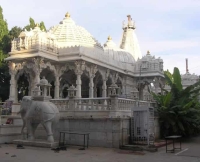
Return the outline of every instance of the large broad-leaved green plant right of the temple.
{"type": "Polygon", "coordinates": [[[164,94],[152,92],[157,102],[157,113],[160,120],[161,135],[181,134],[191,136],[200,132],[200,81],[183,89],[178,68],[173,74],[165,72],[166,83],[170,91],[163,89],[164,94]]]}

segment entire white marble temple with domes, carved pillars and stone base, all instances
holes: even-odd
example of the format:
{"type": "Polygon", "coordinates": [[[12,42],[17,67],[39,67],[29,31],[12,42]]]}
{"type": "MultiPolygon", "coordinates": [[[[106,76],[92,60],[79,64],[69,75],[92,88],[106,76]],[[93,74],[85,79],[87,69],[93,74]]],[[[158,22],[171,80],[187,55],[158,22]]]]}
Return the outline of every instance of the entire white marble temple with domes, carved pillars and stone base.
{"type": "MultiPolygon", "coordinates": [[[[133,112],[140,112],[140,107],[141,110],[153,107],[149,90],[160,93],[159,87],[164,85],[163,60],[149,51],[142,56],[135,29],[128,15],[122,26],[120,46],[111,36],[101,45],[67,13],[47,32],[40,30],[38,24],[30,31],[21,32],[12,41],[6,58],[11,75],[9,100],[13,101],[16,128],[1,128],[11,133],[4,136],[4,142],[21,138],[21,119],[17,113],[22,100],[19,96],[22,77],[28,83],[23,95],[57,106],[60,119],[55,141],[60,130],[89,132],[91,146],[119,147],[129,141],[129,134],[123,130],[131,127],[133,112]]],[[[35,111],[40,114],[38,108],[35,111]]],[[[134,138],[159,136],[157,119],[153,122],[150,114],[141,112],[138,118],[134,116],[135,126],[131,129],[134,138]]],[[[44,137],[42,131],[42,128],[36,130],[36,138],[44,137]]],[[[81,138],[70,139],[72,143],[81,143],[81,138]]]]}

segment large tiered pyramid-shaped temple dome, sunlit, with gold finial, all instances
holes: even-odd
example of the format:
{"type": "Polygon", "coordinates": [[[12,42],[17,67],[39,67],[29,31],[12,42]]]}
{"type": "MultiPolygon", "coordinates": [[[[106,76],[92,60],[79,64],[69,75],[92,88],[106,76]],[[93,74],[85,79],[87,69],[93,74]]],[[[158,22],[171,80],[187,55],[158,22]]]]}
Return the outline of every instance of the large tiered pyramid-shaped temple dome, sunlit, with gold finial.
{"type": "Polygon", "coordinates": [[[65,15],[59,25],[52,27],[49,32],[55,35],[59,47],[101,47],[100,43],[86,29],[75,24],[69,13],[65,15]]]}

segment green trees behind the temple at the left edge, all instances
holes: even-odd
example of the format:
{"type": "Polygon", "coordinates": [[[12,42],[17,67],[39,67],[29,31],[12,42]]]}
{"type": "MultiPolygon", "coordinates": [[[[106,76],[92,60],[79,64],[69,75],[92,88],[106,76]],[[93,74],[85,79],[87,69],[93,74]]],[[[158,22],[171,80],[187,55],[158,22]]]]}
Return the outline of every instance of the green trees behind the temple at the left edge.
{"type": "MultiPolygon", "coordinates": [[[[41,30],[46,31],[44,22],[40,22],[39,27],[41,30]]],[[[36,26],[35,20],[30,17],[29,24],[23,28],[30,31],[31,28],[34,29],[36,26]]],[[[6,20],[4,20],[3,10],[0,6],[0,99],[5,101],[9,97],[10,88],[10,75],[7,63],[4,59],[8,56],[11,51],[11,42],[14,38],[17,38],[22,32],[22,28],[13,27],[10,31],[8,30],[8,25],[6,20]]],[[[24,78],[21,77],[18,81],[19,84],[25,83],[24,78]]],[[[27,84],[27,83],[26,83],[27,84]]],[[[21,85],[20,85],[21,86],[21,85]]]]}

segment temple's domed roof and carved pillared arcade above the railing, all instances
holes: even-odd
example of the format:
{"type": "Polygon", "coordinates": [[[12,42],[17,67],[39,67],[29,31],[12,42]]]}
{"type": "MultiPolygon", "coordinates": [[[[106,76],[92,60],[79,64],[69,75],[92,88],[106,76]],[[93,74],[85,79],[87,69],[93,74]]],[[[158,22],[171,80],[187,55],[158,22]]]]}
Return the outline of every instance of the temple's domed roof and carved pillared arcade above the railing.
{"type": "Polygon", "coordinates": [[[119,97],[151,100],[148,86],[159,88],[163,82],[163,60],[148,51],[142,57],[135,24],[128,15],[117,46],[111,36],[101,45],[86,29],[76,25],[70,14],[47,32],[39,25],[24,30],[12,41],[6,61],[10,69],[10,100],[17,103],[27,80],[26,94],[32,95],[40,79],[51,83],[51,97],[68,97],[67,89],[76,87],[76,98],[107,97],[110,86],[117,85],[119,97]]]}

